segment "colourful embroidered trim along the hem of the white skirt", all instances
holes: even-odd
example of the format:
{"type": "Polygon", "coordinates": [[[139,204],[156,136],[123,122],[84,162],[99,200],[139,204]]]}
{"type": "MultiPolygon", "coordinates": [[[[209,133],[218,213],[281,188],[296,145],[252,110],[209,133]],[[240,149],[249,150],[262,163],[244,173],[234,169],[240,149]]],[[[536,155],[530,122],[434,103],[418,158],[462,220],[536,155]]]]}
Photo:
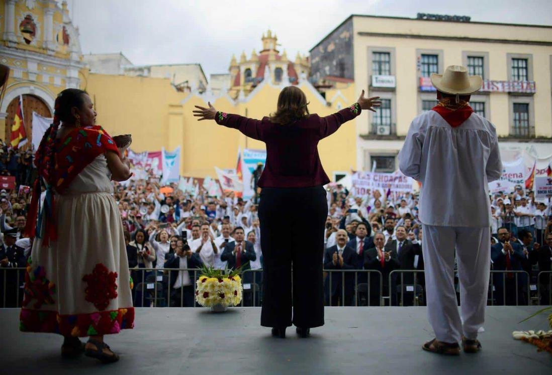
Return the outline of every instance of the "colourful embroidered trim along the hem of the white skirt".
{"type": "Polygon", "coordinates": [[[19,314],[22,332],[58,333],[86,337],[119,333],[134,328],[134,307],[91,314],[59,315],[56,311],[23,308],[19,314]]]}

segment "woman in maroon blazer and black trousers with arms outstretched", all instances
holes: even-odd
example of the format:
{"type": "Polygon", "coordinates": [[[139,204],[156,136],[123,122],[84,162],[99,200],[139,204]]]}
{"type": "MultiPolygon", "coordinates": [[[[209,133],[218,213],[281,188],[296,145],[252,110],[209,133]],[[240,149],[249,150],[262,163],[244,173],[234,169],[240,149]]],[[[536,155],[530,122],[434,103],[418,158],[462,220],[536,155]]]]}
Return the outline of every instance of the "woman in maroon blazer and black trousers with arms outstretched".
{"type": "Polygon", "coordinates": [[[330,179],[317,145],[362,109],[374,111],[380,105],[377,99],[364,98],[363,90],[357,103],[320,117],[309,114],[305,94],[289,86],[280,93],[276,112],[262,120],[220,112],[210,103],[209,108],[195,106],[199,121],[215,120],[266,143],[267,161],[258,182],[264,262],[261,325],[272,327],[274,336],[285,337],[291,323],[302,337],[309,335],[310,328],[324,324],[322,259],[328,206],[323,185],[330,179]]]}

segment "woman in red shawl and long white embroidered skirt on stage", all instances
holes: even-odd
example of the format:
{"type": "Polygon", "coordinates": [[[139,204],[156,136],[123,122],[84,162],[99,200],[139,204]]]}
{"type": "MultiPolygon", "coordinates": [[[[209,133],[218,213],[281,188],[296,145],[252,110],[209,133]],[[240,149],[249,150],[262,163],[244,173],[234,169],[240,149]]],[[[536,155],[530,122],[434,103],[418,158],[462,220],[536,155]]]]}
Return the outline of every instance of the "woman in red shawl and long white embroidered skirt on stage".
{"type": "Polygon", "coordinates": [[[54,123],[36,152],[40,178],[25,228],[36,238],[25,274],[20,330],[61,334],[63,357],[84,351],[114,362],[119,357],[103,336],[133,328],[134,308],[111,180],[128,179],[130,170],[113,139],[94,126],[95,116],[86,92],[63,90],[54,123]],[[90,336],[86,346],[78,339],[84,336],[90,336]]]}

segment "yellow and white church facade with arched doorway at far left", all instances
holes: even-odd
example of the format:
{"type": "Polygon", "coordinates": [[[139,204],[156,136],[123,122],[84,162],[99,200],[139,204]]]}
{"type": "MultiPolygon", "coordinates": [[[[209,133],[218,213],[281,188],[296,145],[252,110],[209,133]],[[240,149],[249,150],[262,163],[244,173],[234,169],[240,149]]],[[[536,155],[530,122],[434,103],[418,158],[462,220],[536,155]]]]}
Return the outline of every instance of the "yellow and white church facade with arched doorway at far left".
{"type": "Polygon", "coordinates": [[[19,96],[23,96],[25,132],[32,133],[33,111],[51,117],[57,94],[78,88],[84,77],[78,29],[67,2],[6,0],[0,7],[0,63],[10,67],[0,106],[0,135],[10,139],[19,96]]]}

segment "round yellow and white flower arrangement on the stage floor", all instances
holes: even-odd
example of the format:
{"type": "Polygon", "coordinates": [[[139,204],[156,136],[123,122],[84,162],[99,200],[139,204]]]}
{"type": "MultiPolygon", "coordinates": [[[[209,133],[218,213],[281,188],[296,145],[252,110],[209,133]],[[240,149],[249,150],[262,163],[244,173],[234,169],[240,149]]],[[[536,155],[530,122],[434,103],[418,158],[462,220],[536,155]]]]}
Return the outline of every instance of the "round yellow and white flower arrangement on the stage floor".
{"type": "Polygon", "coordinates": [[[232,271],[204,266],[196,282],[195,301],[215,311],[237,306],[241,303],[243,293],[240,273],[241,267],[232,271]]]}

